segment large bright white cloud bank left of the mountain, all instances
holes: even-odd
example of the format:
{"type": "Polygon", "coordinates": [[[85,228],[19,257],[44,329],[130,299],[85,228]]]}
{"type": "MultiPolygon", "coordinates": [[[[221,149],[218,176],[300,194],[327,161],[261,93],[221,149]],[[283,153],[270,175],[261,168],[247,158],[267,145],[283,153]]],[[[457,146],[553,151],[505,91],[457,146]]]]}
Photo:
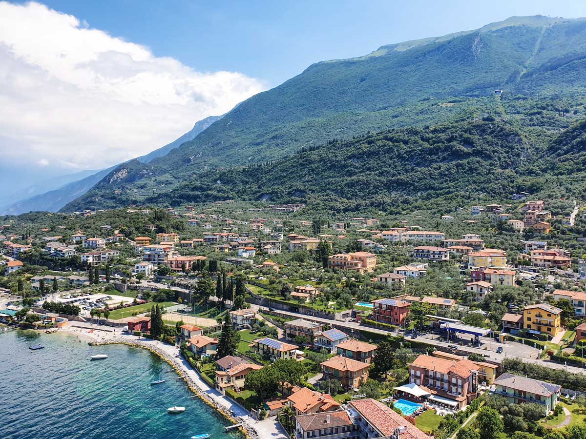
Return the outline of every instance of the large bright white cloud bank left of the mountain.
{"type": "Polygon", "coordinates": [[[45,5],[0,2],[5,160],[97,169],[159,148],[263,84],[200,73],[45,5]]]}

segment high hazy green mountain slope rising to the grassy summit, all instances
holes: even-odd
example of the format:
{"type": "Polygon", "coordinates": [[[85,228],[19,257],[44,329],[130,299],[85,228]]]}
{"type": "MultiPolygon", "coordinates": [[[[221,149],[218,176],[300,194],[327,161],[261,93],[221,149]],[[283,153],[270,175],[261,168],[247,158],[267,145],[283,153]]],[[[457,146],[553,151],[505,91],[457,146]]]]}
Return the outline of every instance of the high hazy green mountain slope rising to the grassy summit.
{"type": "MultiPolygon", "coordinates": [[[[479,30],[382,46],[324,61],[244,101],[148,167],[102,181],[64,211],[112,207],[109,195],[155,200],[205,170],[263,162],[368,130],[434,125],[503,114],[505,97],[586,93],[586,20],[515,17],[479,30]],[[568,43],[569,42],[569,43],[568,43]],[[454,107],[437,107],[448,102],[454,107]]],[[[163,198],[160,200],[165,202],[163,198]]]]}

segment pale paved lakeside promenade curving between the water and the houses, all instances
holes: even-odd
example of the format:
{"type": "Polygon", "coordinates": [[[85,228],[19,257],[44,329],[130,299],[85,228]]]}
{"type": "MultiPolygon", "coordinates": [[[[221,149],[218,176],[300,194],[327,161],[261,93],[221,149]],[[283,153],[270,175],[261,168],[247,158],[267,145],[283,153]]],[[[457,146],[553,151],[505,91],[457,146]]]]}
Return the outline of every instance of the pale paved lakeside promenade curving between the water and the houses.
{"type": "Polygon", "coordinates": [[[193,387],[196,392],[207,402],[213,405],[214,408],[229,414],[238,422],[243,423],[250,437],[259,439],[281,439],[287,438],[287,433],[278,423],[275,417],[257,421],[250,416],[250,413],[244,407],[240,406],[233,400],[223,396],[215,389],[212,389],[199,376],[199,374],[191,367],[191,365],[179,355],[179,348],[163,344],[159,341],[154,341],[148,338],[137,337],[135,335],[123,334],[120,331],[106,332],[102,331],[102,327],[98,325],[87,325],[86,328],[67,328],[65,331],[76,335],[84,335],[93,341],[104,344],[124,343],[128,345],[135,345],[151,349],[161,355],[166,361],[171,362],[184,377],[185,381],[193,387]],[[94,330],[94,332],[89,332],[94,330]],[[179,355],[179,356],[178,356],[179,355]]]}

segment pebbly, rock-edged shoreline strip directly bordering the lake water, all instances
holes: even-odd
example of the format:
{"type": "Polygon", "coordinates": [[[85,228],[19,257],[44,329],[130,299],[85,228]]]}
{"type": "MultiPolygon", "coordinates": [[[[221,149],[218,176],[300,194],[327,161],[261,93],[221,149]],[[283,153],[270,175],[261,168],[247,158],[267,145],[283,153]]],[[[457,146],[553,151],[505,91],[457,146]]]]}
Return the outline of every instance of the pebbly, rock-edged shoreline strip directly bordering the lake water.
{"type": "MultiPolygon", "coordinates": [[[[90,329],[88,328],[88,330],[90,329]]],[[[203,382],[203,380],[199,377],[199,373],[197,373],[195,369],[191,368],[191,366],[189,366],[188,368],[186,364],[182,361],[181,357],[176,358],[170,352],[167,352],[161,348],[162,346],[165,346],[168,348],[175,349],[174,347],[171,347],[171,345],[164,345],[162,343],[157,344],[158,342],[153,341],[151,339],[139,339],[134,335],[122,335],[121,333],[115,332],[108,332],[108,334],[102,336],[103,332],[105,331],[100,331],[96,329],[95,331],[98,332],[95,333],[88,332],[88,330],[83,330],[82,328],[61,328],[56,333],[59,334],[61,332],[62,334],[76,335],[81,339],[91,342],[91,344],[94,346],[124,344],[130,347],[147,349],[148,351],[159,356],[159,358],[168,363],[169,366],[173,368],[173,371],[175,371],[177,376],[182,377],[182,380],[183,382],[185,382],[185,385],[188,387],[188,389],[195,396],[199,397],[200,400],[205,402],[213,410],[215,410],[217,413],[223,416],[224,419],[226,419],[233,425],[241,423],[242,426],[237,428],[237,430],[239,430],[240,433],[243,434],[246,439],[268,439],[268,435],[261,434],[257,430],[257,428],[255,428],[254,424],[257,423],[257,421],[251,419],[250,416],[248,416],[248,414],[246,414],[246,416],[243,416],[244,413],[238,414],[234,411],[234,407],[236,406],[239,407],[241,412],[246,412],[246,409],[244,409],[244,407],[241,407],[240,404],[237,404],[231,399],[227,399],[227,397],[223,397],[225,398],[225,400],[223,399],[222,402],[214,399],[207,392],[209,392],[210,390],[213,390],[215,392],[215,390],[212,389],[212,387],[209,387],[207,383],[203,382]],[[110,337],[108,337],[108,335],[110,335],[110,337]],[[192,376],[190,376],[190,373],[195,374],[199,378],[200,382],[197,382],[197,380],[193,379],[192,376]]],[[[40,330],[40,332],[44,332],[44,330],[40,330]]],[[[274,436],[271,435],[271,437],[274,436]]]]}

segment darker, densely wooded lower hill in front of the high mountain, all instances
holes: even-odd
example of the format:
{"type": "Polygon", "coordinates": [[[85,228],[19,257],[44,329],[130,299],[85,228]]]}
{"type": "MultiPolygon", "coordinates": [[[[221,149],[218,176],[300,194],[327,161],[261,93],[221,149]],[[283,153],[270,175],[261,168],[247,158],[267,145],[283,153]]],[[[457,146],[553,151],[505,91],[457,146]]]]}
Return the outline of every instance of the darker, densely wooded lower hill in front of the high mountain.
{"type": "Polygon", "coordinates": [[[549,139],[498,121],[388,130],[265,166],[207,172],[166,199],[171,205],[239,199],[398,213],[467,207],[483,196],[507,200],[526,190],[583,198],[586,183],[575,181],[582,171],[565,166],[586,160],[585,127],[586,121],[549,139]]]}

